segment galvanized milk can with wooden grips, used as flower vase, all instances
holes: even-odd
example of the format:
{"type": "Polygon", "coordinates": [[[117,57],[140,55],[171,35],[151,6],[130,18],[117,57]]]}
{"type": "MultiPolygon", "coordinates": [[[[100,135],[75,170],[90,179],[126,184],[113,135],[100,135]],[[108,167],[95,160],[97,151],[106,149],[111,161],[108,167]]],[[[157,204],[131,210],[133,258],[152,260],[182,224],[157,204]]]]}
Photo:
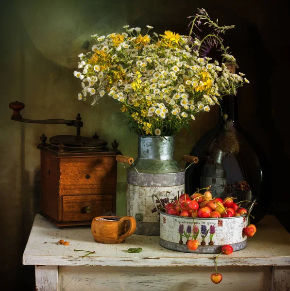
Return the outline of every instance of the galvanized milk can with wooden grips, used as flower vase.
{"type": "MultiPolygon", "coordinates": [[[[185,189],[185,169],[174,159],[174,136],[138,136],[138,158],[117,156],[127,162],[127,215],[136,219],[136,234],[159,235],[159,215],[152,195],[173,198],[185,189]]],[[[185,162],[198,158],[184,156],[185,162]]],[[[125,166],[124,166],[125,167],[125,166]]]]}

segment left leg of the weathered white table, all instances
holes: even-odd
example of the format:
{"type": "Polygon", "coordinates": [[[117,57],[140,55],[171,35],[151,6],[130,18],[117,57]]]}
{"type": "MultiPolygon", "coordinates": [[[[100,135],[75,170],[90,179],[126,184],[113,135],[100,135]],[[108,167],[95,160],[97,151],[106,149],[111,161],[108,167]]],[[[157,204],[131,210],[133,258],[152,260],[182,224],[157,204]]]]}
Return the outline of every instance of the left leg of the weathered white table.
{"type": "Polygon", "coordinates": [[[35,266],[35,290],[58,291],[58,266],[35,266]]]}

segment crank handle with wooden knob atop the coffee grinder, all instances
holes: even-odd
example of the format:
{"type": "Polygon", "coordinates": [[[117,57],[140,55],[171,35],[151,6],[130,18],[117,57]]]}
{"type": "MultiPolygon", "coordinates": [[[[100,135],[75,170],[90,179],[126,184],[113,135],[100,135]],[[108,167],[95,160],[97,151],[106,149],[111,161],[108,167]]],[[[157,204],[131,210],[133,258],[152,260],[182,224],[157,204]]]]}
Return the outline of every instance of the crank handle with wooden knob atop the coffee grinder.
{"type": "Polygon", "coordinates": [[[22,102],[11,102],[9,107],[13,110],[13,115],[11,116],[12,120],[28,123],[43,123],[43,124],[66,124],[72,126],[75,123],[75,120],[66,120],[66,119],[26,119],[22,118],[20,111],[25,107],[25,104],[22,102]]]}

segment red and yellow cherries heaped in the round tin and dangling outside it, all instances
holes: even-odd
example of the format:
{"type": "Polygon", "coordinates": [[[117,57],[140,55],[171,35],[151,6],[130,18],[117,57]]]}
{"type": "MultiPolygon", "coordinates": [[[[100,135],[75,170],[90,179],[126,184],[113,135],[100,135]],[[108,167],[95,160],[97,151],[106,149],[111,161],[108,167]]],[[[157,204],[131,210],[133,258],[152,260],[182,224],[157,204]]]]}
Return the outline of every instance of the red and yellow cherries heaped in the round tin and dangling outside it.
{"type": "MultiPolygon", "coordinates": [[[[235,203],[234,197],[226,197],[223,200],[221,198],[213,198],[212,194],[208,189],[205,188],[204,194],[194,193],[191,196],[188,194],[182,194],[173,201],[168,202],[164,205],[164,208],[161,210],[165,213],[183,217],[201,217],[201,218],[220,218],[220,217],[233,217],[240,216],[243,214],[248,214],[248,210],[240,207],[239,204],[242,202],[251,202],[251,201],[240,201],[235,203]]],[[[203,190],[203,189],[201,189],[203,190]]],[[[248,217],[248,226],[243,229],[247,237],[251,237],[256,233],[256,226],[250,224],[250,218],[248,217]]],[[[196,250],[199,245],[199,242],[196,240],[196,236],[192,236],[192,239],[188,240],[187,246],[189,250],[196,250]]],[[[213,283],[218,284],[222,281],[222,275],[217,273],[217,258],[221,254],[230,255],[234,251],[233,247],[229,244],[222,247],[222,252],[214,256],[215,259],[215,268],[216,272],[210,276],[210,279],[213,283]]]]}

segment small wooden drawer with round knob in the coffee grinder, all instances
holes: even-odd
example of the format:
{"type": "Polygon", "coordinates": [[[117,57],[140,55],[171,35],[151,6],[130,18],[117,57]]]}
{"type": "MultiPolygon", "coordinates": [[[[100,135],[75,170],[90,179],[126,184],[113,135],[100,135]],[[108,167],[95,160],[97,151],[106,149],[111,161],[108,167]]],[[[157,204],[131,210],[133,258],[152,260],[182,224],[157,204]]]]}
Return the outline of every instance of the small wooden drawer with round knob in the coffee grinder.
{"type": "Polygon", "coordinates": [[[62,221],[93,220],[113,209],[113,195],[63,196],[62,221]]]}

